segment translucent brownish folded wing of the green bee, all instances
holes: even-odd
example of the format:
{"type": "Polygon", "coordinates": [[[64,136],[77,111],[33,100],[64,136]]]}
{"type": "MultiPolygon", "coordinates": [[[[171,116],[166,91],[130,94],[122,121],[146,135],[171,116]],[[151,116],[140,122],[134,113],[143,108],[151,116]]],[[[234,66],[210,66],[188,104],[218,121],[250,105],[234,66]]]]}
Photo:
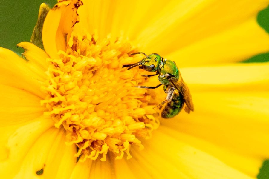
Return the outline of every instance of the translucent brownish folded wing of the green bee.
{"type": "Polygon", "coordinates": [[[172,84],[175,88],[183,95],[184,103],[186,106],[184,107],[185,112],[190,113],[190,111],[194,110],[192,103],[192,95],[190,94],[189,87],[186,83],[184,83],[183,79],[180,77],[178,81],[171,80],[172,84]]]}

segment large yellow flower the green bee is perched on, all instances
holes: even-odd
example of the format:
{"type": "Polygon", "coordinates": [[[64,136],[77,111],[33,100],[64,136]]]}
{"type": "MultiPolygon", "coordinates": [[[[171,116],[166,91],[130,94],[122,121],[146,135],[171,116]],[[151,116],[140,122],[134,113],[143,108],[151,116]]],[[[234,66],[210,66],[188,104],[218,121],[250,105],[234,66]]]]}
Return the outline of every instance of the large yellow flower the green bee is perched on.
{"type": "Polygon", "coordinates": [[[255,178],[269,157],[269,63],[232,62],[269,50],[256,22],[267,4],[59,1],[45,51],[0,48],[1,178],[255,178]],[[134,87],[158,78],[122,68],[137,51],[176,62],[194,112],[158,117],[163,89],[134,87]]]}

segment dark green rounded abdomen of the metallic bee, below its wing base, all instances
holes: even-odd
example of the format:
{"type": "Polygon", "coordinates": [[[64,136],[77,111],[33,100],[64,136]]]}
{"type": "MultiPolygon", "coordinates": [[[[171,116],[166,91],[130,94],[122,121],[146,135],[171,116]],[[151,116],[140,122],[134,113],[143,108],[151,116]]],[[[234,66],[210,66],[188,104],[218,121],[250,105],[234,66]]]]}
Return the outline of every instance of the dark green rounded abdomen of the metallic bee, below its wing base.
{"type": "Polygon", "coordinates": [[[176,116],[182,109],[183,105],[183,96],[174,95],[172,100],[166,104],[162,110],[162,118],[172,118],[176,116]]]}

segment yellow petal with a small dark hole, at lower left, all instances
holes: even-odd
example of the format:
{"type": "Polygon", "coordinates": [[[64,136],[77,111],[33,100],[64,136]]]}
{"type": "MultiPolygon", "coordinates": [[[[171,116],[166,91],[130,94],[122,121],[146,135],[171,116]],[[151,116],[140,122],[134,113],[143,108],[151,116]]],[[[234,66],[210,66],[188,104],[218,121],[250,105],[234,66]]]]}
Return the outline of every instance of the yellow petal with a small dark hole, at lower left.
{"type": "Polygon", "coordinates": [[[37,178],[36,171],[41,169],[44,178],[68,178],[76,163],[76,147],[66,146],[64,138],[64,130],[54,127],[42,134],[27,153],[15,178],[37,178]]]}

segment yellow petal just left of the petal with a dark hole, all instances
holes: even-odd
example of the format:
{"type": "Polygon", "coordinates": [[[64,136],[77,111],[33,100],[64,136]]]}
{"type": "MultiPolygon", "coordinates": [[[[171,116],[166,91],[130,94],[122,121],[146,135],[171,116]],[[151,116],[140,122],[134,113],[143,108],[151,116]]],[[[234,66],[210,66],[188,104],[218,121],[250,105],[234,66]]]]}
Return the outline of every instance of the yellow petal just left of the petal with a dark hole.
{"type": "Polygon", "coordinates": [[[0,146],[1,178],[12,178],[13,175],[19,172],[21,162],[33,143],[51,126],[53,126],[53,121],[50,118],[41,116],[20,126],[13,131],[12,135],[7,136],[7,142],[1,143],[0,146]],[[3,155],[6,158],[3,158],[3,155]]]}

